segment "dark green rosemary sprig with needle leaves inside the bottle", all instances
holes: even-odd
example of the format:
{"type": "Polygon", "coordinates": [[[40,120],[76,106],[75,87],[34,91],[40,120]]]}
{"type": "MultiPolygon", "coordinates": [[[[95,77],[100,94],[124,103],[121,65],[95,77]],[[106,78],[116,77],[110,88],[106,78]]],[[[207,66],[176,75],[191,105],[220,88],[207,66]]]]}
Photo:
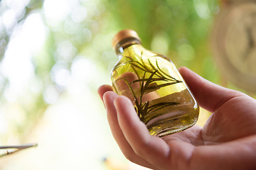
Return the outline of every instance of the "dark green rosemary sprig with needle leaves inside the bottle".
{"type": "MultiPolygon", "coordinates": [[[[159,111],[162,108],[165,108],[168,106],[175,106],[179,104],[176,102],[160,102],[150,106],[149,101],[146,101],[146,103],[142,103],[142,97],[144,96],[144,94],[149,93],[151,91],[156,91],[165,86],[171,86],[173,84],[181,83],[182,81],[175,79],[174,77],[171,77],[171,75],[164,72],[159,67],[159,63],[157,62],[157,60],[156,60],[156,67],[155,67],[154,64],[152,64],[152,62],[149,59],[148,59],[149,64],[145,64],[144,60],[142,59],[142,56],[141,56],[140,62],[137,60],[132,60],[132,57],[129,57],[129,56],[126,56],[126,58],[128,58],[129,61],[124,63],[130,64],[134,74],[137,75],[138,79],[132,81],[131,83],[127,81],[127,77],[122,77],[120,79],[124,79],[127,86],[129,87],[129,90],[132,92],[132,96],[134,96],[134,102],[136,106],[134,108],[135,108],[135,111],[137,111],[137,114],[140,120],[144,122],[144,118],[146,115],[159,111]],[[142,77],[139,76],[141,73],[139,73],[137,70],[144,72],[142,77]],[[148,78],[146,78],[146,73],[150,74],[148,78]],[[157,84],[156,82],[158,81],[166,81],[166,83],[163,84],[161,82],[161,84],[157,84]],[[140,86],[140,94],[138,96],[135,94],[134,89],[132,89],[132,86],[131,86],[134,83],[139,83],[139,86],[140,86]]],[[[120,67],[121,65],[124,65],[124,63],[117,65],[116,68],[120,67]]],[[[120,79],[117,79],[116,81],[119,81],[120,79]]]]}

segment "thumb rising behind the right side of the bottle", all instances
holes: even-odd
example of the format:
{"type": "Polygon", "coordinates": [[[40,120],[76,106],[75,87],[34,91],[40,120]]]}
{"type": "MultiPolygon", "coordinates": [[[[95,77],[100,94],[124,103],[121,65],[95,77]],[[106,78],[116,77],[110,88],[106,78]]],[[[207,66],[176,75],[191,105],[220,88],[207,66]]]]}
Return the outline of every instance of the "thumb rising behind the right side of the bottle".
{"type": "Polygon", "coordinates": [[[186,84],[188,84],[189,89],[191,89],[193,95],[196,97],[199,106],[210,112],[214,112],[231,98],[245,96],[245,94],[238,91],[233,91],[218,86],[217,84],[213,84],[186,67],[181,67],[178,71],[181,73],[186,84]]]}

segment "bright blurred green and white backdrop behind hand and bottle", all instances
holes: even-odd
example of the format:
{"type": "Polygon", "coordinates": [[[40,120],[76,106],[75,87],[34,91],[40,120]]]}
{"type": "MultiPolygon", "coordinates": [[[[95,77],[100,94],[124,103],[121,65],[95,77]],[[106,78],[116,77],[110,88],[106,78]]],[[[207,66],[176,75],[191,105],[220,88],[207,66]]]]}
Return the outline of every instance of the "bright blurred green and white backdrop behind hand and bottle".
{"type": "Polygon", "coordinates": [[[110,84],[111,40],[122,29],[136,30],[144,47],[176,67],[247,93],[212,55],[219,2],[1,0],[0,145],[38,147],[0,157],[0,169],[142,169],[122,156],[97,97],[98,86],[110,84]]]}

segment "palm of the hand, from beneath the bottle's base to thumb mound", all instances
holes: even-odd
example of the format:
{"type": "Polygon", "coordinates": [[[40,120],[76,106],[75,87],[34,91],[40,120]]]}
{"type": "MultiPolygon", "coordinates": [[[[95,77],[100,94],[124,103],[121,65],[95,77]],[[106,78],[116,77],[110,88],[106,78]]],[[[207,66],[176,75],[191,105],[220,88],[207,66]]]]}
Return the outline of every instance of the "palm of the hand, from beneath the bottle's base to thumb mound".
{"type": "Polygon", "coordinates": [[[168,142],[176,138],[198,146],[217,145],[255,135],[256,115],[253,111],[248,110],[251,105],[256,103],[247,99],[245,96],[232,98],[215,110],[203,128],[195,125],[188,130],[163,139],[168,142]]]}

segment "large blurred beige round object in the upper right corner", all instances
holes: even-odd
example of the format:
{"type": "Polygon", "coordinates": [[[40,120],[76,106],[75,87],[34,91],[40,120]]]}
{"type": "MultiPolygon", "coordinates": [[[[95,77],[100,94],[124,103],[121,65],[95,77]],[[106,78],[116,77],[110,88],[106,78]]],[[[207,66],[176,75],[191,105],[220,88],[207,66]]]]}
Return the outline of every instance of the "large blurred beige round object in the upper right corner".
{"type": "Polygon", "coordinates": [[[230,2],[213,26],[213,55],[228,80],[256,92],[256,0],[230,2]]]}

